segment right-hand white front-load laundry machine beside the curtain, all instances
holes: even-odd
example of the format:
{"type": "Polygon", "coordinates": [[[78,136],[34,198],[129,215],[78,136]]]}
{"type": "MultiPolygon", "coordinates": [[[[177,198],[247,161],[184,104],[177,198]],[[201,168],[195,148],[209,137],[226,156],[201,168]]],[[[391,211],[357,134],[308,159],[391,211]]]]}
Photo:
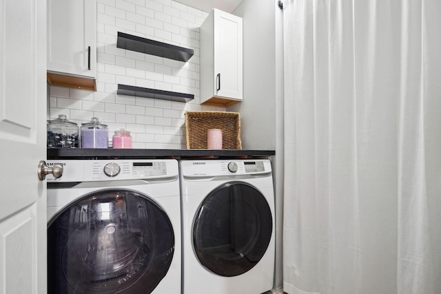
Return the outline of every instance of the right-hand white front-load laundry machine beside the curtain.
{"type": "Polygon", "coordinates": [[[274,280],[269,160],[182,160],[183,293],[258,294],[274,280]]]}

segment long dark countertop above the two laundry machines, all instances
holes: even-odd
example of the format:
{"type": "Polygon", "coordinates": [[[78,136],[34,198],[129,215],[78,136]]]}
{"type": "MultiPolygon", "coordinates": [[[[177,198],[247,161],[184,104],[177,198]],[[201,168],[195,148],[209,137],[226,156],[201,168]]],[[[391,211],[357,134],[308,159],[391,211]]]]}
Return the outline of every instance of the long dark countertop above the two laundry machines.
{"type": "Polygon", "coordinates": [[[209,149],[87,149],[48,148],[48,159],[227,159],[227,158],[268,158],[274,150],[209,150],[209,149]]]}

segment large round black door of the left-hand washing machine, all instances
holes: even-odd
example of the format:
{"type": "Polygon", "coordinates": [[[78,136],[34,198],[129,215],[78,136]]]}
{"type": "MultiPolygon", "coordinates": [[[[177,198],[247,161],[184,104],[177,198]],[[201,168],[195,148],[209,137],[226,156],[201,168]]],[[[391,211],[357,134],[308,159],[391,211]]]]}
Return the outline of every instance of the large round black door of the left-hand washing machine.
{"type": "Polygon", "coordinates": [[[151,293],[173,253],[172,223],[154,201],[125,189],[92,193],[48,225],[48,293],[151,293]]]}

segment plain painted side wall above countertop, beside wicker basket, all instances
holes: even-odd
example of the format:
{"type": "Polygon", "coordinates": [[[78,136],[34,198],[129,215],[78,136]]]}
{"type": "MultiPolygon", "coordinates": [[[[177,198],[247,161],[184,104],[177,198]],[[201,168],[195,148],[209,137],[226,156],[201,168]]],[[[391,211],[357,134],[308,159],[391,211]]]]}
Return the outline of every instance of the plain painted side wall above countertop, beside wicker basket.
{"type": "Polygon", "coordinates": [[[228,107],[240,112],[243,149],[276,147],[276,54],[274,3],[244,0],[233,14],[243,18],[243,101],[228,107]]]}

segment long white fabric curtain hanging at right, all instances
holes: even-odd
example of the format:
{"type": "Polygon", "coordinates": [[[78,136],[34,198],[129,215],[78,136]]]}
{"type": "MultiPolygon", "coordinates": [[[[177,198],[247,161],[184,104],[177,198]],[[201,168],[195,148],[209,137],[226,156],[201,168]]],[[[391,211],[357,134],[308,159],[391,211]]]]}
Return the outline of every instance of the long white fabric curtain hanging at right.
{"type": "Polygon", "coordinates": [[[285,3],[284,291],[441,293],[441,1],[285,3]]]}

